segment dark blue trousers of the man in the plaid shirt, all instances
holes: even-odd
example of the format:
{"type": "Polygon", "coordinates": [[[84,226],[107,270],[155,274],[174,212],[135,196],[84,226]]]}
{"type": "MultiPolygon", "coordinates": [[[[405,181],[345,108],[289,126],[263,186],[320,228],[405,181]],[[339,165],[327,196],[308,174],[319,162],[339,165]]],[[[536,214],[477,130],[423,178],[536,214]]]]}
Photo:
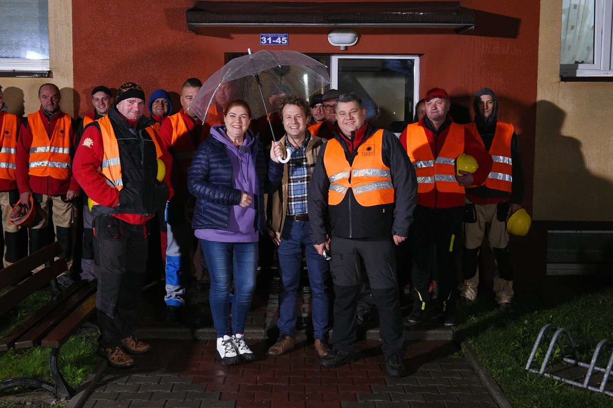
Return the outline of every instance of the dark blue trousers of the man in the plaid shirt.
{"type": "Polygon", "coordinates": [[[308,278],[311,284],[311,318],[313,319],[313,337],[327,339],[330,331],[330,277],[329,262],[319,255],[313,247],[309,236],[308,221],[294,221],[286,218],[281,233],[281,243],[277,254],[279,257],[279,274],[281,290],[279,292],[279,319],[277,327],[281,334],[294,337],[298,314],[298,286],[302,270],[302,248],[307,254],[308,278]]]}

